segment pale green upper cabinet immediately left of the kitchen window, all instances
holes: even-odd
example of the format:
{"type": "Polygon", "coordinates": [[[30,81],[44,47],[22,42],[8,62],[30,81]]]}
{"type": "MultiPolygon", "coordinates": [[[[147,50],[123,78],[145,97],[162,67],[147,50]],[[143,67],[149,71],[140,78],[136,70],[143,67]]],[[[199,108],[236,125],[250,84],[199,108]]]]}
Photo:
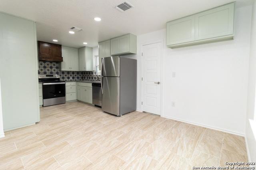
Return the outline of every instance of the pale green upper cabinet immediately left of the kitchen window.
{"type": "Polygon", "coordinates": [[[93,71],[92,47],[82,47],[79,49],[79,70],[93,71]]]}

